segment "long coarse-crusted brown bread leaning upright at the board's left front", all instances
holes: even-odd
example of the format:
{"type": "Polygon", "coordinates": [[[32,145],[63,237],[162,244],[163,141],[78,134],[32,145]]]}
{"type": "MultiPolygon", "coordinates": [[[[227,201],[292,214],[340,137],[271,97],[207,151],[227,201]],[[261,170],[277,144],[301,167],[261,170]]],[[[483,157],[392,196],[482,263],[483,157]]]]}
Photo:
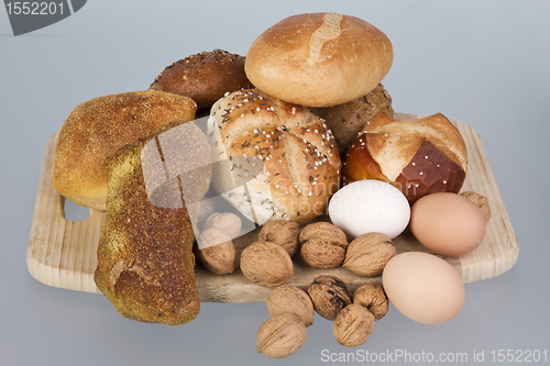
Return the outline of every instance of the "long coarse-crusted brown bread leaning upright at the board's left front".
{"type": "Polygon", "coordinates": [[[173,121],[106,159],[106,221],[95,281],[125,318],[183,324],[199,312],[194,218],[211,178],[210,148],[193,122],[173,121]]]}

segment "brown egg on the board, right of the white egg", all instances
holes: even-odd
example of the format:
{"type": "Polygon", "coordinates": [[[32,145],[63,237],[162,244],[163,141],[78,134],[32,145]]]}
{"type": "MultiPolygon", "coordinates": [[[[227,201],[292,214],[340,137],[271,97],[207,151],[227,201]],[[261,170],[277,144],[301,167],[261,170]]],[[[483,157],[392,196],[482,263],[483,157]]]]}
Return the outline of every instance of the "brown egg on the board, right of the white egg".
{"type": "Polygon", "coordinates": [[[458,257],[480,246],[486,223],[483,212],[468,198],[440,192],[425,196],[413,204],[409,228],[430,251],[458,257]]]}

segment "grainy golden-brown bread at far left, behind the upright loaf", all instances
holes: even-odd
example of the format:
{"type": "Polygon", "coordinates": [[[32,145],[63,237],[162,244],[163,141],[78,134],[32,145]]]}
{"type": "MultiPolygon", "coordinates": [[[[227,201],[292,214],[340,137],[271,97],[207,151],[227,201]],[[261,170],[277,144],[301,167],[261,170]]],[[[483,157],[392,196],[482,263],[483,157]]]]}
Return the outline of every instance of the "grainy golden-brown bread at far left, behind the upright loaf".
{"type": "Polygon", "coordinates": [[[187,97],[155,90],[105,96],[77,106],[55,146],[54,189],[80,206],[105,211],[106,157],[167,122],[193,120],[196,110],[187,97]]]}

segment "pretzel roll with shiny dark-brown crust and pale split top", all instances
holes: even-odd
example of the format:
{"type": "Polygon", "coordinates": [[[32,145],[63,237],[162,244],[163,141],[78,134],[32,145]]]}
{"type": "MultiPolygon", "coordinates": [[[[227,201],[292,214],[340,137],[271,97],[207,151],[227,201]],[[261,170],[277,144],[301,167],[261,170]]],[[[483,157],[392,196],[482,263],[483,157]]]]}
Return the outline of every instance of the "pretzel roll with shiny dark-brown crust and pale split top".
{"type": "Polygon", "coordinates": [[[432,192],[458,192],[468,171],[466,146],[441,113],[394,120],[378,113],[343,159],[343,182],[380,179],[393,184],[410,203],[432,192]]]}

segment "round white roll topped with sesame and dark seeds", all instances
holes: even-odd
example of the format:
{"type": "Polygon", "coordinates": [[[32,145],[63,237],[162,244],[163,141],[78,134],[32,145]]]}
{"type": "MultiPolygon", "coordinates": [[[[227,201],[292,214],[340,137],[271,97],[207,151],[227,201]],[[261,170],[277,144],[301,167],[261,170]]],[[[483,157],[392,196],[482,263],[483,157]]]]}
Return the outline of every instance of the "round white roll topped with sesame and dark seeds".
{"type": "Polygon", "coordinates": [[[256,89],[227,93],[212,106],[208,136],[215,189],[257,224],[309,222],[339,188],[332,132],[306,107],[256,89]]]}

